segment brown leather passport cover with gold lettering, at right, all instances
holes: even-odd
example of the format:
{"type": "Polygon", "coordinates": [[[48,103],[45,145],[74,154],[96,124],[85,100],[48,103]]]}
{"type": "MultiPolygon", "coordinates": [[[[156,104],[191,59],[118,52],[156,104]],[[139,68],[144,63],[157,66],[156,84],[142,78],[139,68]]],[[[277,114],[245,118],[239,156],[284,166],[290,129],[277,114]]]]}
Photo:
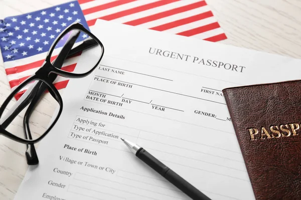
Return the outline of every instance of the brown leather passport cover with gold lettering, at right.
{"type": "Polygon", "coordinates": [[[223,89],[255,198],[301,199],[301,80],[223,89]]]}

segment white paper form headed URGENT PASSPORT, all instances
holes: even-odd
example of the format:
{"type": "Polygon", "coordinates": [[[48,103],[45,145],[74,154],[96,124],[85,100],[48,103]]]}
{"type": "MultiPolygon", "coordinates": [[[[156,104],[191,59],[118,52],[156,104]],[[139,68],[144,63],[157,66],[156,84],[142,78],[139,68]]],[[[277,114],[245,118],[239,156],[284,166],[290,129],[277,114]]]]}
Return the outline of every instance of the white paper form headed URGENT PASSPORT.
{"type": "MultiPolygon", "coordinates": [[[[254,199],[221,90],[298,79],[300,60],[104,20],[92,32],[104,56],[70,79],[15,199],[190,199],[120,137],[212,199],[254,199]]],[[[75,70],[90,62],[81,56],[75,70]]]]}

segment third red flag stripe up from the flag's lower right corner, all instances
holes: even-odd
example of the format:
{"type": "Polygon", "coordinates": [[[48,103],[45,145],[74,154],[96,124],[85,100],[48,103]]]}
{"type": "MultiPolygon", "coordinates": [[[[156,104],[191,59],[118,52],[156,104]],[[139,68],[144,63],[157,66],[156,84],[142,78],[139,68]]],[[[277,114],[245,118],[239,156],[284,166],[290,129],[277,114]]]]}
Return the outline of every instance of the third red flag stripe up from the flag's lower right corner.
{"type": "Polygon", "coordinates": [[[184,24],[187,24],[187,23],[198,21],[198,20],[208,18],[208,17],[211,17],[211,16],[213,16],[212,11],[208,11],[208,12],[204,12],[204,13],[201,13],[201,14],[197,14],[197,15],[194,15],[194,16],[187,17],[187,18],[183,18],[183,19],[179,19],[179,20],[176,20],[176,21],[172,21],[172,22],[169,22],[169,23],[162,24],[162,25],[158,25],[156,27],[152,27],[152,28],[149,28],[149,29],[158,30],[158,31],[168,30],[168,29],[173,28],[173,27],[177,27],[177,26],[180,26],[180,25],[184,25],[184,24]]]}

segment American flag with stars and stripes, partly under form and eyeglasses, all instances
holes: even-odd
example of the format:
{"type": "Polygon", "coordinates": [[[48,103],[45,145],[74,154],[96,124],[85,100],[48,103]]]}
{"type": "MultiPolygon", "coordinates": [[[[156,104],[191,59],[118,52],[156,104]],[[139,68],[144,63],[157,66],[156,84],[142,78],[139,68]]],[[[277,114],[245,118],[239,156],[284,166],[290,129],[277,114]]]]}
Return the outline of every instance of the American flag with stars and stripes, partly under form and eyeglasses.
{"type": "MultiPolygon", "coordinates": [[[[209,41],[227,38],[205,0],[71,1],[0,20],[0,49],[12,89],[42,65],[52,42],[65,27],[79,21],[89,29],[97,18],[209,41]]],[[[71,59],[63,66],[65,70],[74,70],[78,57],[71,59]]],[[[58,89],[67,83],[64,77],[55,80],[58,89]]]]}

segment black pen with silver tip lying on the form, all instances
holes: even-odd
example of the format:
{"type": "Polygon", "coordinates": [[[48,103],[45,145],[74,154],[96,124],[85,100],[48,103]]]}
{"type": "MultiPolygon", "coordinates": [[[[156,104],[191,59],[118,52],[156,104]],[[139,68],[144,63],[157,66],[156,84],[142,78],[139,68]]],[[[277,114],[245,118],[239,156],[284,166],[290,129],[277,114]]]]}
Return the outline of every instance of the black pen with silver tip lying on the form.
{"type": "Polygon", "coordinates": [[[130,151],[132,151],[139,159],[141,159],[148,166],[152,167],[155,171],[160,173],[163,177],[165,177],[168,181],[170,181],[172,184],[178,187],[181,191],[186,193],[189,197],[191,197],[194,200],[211,200],[200,190],[195,188],[192,184],[187,182],[184,178],[182,178],[175,171],[163,164],[145,149],[126,139],[121,138],[121,140],[125,143],[125,145],[127,145],[130,151]]]}

